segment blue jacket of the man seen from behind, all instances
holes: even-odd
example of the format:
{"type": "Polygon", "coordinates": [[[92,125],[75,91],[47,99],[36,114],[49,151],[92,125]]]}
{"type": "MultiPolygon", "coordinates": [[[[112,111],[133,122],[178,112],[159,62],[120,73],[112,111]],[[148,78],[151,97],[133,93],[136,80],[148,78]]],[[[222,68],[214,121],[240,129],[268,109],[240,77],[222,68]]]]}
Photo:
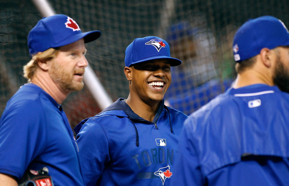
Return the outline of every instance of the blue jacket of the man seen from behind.
{"type": "Polygon", "coordinates": [[[189,116],[171,185],[289,185],[289,94],[231,88],[189,116]]]}

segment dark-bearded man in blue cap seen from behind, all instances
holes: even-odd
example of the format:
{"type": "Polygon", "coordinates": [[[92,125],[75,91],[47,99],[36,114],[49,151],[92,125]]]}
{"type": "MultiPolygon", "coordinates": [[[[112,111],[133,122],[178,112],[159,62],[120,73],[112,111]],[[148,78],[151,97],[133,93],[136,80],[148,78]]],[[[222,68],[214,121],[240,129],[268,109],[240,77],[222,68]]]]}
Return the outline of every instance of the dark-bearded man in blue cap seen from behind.
{"type": "Polygon", "coordinates": [[[288,29],[250,19],[233,54],[233,88],[185,121],[171,185],[289,185],[288,29]]]}

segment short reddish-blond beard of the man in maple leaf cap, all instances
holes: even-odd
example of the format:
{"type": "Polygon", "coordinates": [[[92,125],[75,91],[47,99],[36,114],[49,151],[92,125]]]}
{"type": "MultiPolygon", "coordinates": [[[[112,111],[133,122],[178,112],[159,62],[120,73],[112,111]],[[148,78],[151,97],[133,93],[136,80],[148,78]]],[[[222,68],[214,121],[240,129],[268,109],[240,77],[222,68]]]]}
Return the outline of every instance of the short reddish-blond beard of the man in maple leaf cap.
{"type": "MultiPolygon", "coordinates": [[[[83,81],[81,82],[73,82],[73,77],[76,72],[70,73],[65,70],[65,67],[62,67],[54,60],[51,61],[52,66],[49,70],[49,75],[51,79],[62,89],[62,91],[65,91],[67,93],[72,91],[79,91],[83,88],[83,81]]],[[[83,70],[79,70],[84,72],[83,70]]]]}

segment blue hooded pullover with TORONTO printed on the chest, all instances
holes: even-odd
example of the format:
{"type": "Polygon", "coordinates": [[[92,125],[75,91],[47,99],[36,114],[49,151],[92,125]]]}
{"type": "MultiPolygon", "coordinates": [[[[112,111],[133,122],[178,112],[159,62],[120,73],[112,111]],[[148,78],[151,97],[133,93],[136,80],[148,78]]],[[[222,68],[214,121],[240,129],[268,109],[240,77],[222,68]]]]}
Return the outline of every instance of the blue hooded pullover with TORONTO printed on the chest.
{"type": "Polygon", "coordinates": [[[86,185],[168,185],[188,116],[161,101],[149,122],[123,100],[74,128],[86,185]]]}

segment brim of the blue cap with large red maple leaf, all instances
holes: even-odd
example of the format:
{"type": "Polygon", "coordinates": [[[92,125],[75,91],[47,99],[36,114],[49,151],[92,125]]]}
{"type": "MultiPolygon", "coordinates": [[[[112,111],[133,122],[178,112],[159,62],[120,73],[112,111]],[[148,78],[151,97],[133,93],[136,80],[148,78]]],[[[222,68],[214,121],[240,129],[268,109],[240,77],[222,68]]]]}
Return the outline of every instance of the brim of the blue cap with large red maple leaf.
{"type": "Polygon", "coordinates": [[[84,39],[84,43],[88,43],[88,42],[96,40],[97,38],[100,37],[100,35],[101,35],[101,32],[99,30],[93,30],[90,32],[79,33],[79,34],[70,36],[69,38],[66,38],[65,40],[63,40],[57,44],[54,44],[51,47],[55,48],[55,47],[68,45],[68,44],[71,44],[71,43],[78,41],[82,38],[84,39]]]}

